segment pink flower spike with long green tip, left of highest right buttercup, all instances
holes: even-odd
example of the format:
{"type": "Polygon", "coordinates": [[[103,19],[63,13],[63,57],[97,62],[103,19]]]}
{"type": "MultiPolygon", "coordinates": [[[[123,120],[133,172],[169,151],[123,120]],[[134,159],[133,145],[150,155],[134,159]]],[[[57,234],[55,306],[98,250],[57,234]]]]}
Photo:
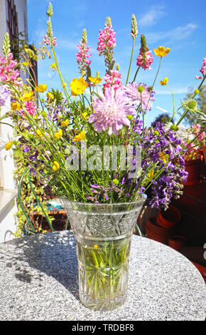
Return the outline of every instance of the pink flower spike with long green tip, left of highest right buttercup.
{"type": "Polygon", "coordinates": [[[153,63],[153,56],[151,51],[148,51],[146,45],[146,39],[144,35],[141,35],[141,48],[139,49],[139,56],[136,59],[136,65],[141,66],[144,70],[147,68],[151,70],[151,64],[153,63]]]}

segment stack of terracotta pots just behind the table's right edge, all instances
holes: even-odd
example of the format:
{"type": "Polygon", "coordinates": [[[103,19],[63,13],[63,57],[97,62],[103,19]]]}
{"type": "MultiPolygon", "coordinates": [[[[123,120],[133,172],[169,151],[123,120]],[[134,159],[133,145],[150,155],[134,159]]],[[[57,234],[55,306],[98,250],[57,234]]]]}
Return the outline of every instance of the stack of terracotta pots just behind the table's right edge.
{"type": "Polygon", "coordinates": [[[146,236],[163,244],[168,244],[168,239],[173,234],[180,217],[179,210],[172,205],[166,211],[160,210],[157,217],[151,217],[147,220],[146,236]]]}

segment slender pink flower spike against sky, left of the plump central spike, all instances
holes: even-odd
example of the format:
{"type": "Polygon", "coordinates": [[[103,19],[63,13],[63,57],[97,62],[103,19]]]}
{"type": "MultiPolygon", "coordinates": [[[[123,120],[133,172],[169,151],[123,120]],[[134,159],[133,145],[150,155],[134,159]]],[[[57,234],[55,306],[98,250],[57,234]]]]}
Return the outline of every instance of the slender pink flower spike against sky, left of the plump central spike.
{"type": "Polygon", "coordinates": [[[87,45],[87,31],[86,29],[83,29],[80,46],[77,46],[79,52],[76,53],[77,63],[79,64],[80,73],[82,76],[85,76],[87,67],[90,66],[91,63],[91,61],[87,58],[90,58],[92,56],[91,53],[89,53],[90,46],[86,45],[87,45]]]}

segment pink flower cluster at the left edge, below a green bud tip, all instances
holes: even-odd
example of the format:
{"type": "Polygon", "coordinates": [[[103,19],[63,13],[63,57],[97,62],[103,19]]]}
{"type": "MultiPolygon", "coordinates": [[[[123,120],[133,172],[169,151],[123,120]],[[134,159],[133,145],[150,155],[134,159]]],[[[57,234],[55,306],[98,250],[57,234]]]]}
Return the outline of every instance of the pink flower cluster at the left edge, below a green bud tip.
{"type": "Polygon", "coordinates": [[[21,82],[17,81],[19,77],[19,71],[15,69],[17,61],[13,61],[13,54],[9,53],[7,58],[0,55],[0,81],[12,81],[16,85],[20,85],[21,82]]]}

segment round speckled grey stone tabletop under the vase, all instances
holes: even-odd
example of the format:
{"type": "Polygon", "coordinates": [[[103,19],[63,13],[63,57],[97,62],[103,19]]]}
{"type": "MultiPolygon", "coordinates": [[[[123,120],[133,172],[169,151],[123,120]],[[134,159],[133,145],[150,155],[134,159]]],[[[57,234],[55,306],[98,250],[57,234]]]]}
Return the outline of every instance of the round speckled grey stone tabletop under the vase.
{"type": "Polygon", "coordinates": [[[0,244],[0,320],[205,320],[206,286],[182,254],[134,235],[124,306],[92,311],[78,297],[72,232],[48,232],[0,244]]]}

